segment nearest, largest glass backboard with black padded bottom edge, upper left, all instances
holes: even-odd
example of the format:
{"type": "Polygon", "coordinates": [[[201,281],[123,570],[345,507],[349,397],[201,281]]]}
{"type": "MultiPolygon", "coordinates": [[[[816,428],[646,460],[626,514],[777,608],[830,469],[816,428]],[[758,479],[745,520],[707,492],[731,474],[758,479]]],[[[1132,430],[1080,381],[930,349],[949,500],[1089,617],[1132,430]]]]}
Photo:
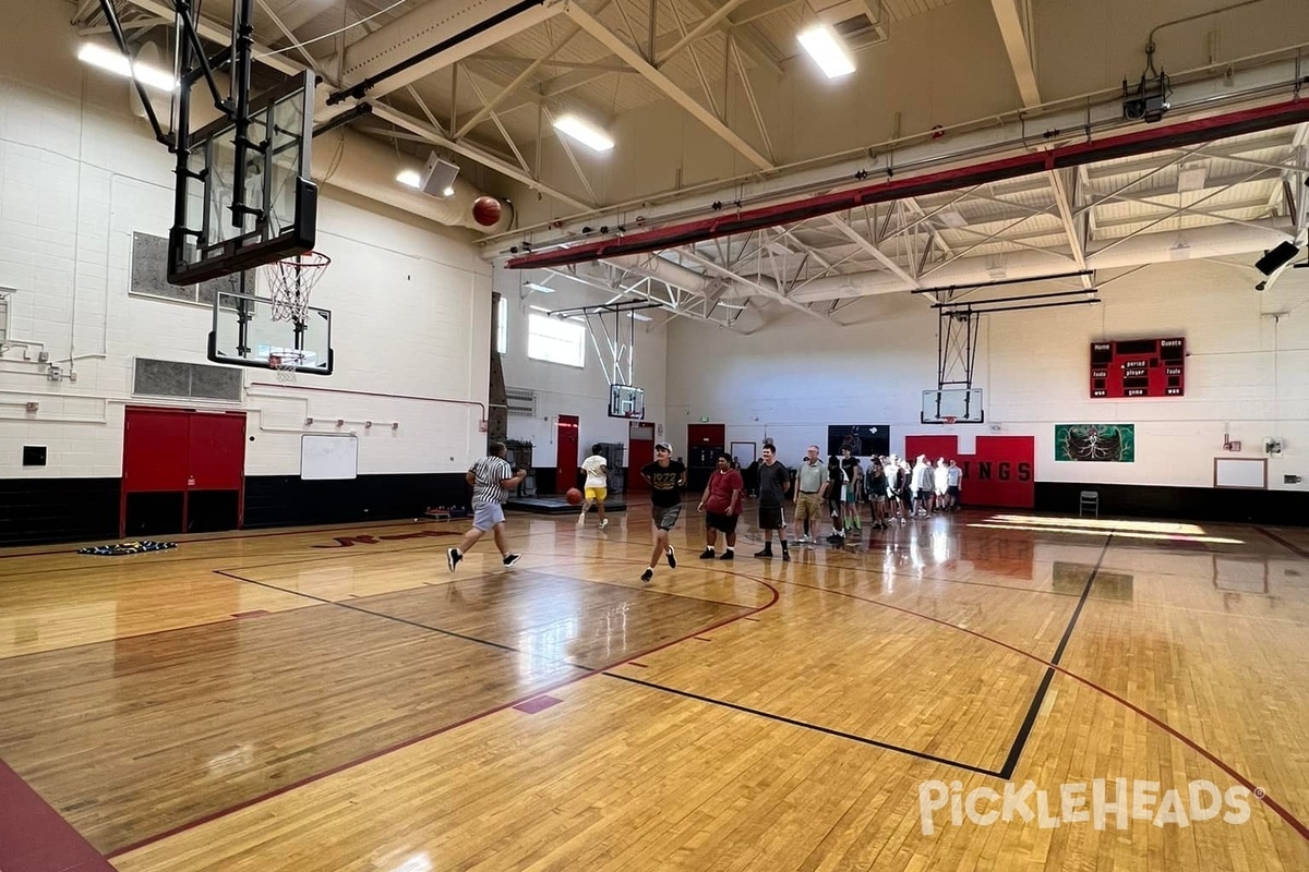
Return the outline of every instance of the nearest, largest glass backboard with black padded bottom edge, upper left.
{"type": "Polygon", "coordinates": [[[181,224],[169,234],[170,282],[188,285],[313,248],[313,94],[306,71],[253,97],[243,149],[236,120],[225,116],[191,133],[187,171],[177,180],[181,224]]]}

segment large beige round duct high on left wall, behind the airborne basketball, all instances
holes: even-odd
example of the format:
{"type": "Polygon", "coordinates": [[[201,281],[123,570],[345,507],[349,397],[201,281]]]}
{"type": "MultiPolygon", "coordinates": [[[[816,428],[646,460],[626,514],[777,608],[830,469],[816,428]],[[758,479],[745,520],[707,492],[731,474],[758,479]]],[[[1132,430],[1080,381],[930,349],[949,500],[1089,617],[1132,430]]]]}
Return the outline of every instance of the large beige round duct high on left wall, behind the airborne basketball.
{"type": "Polygon", "coordinates": [[[454,193],[448,197],[428,196],[401,184],[397,173],[421,171],[421,161],[397,159],[394,149],[348,128],[315,137],[313,158],[313,179],[319,184],[332,184],[452,227],[499,233],[509,226],[509,209],[503,209],[492,226],[482,226],[473,218],[473,203],[484,195],[462,175],[454,179],[454,193]]]}

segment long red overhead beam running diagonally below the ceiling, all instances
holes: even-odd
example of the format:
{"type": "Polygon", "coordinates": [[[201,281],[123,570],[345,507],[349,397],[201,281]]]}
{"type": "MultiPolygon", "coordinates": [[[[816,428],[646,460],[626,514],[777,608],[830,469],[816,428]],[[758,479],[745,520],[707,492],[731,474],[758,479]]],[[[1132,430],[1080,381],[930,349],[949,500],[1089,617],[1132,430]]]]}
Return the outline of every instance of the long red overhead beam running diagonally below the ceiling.
{"type": "Polygon", "coordinates": [[[974,184],[1014,179],[1022,175],[1034,175],[1047,170],[1081,166],[1097,161],[1147,154],[1165,148],[1195,145],[1229,136],[1299,124],[1301,122],[1309,122],[1309,99],[1292,99],[1284,103],[1261,106],[1259,109],[1242,110],[1216,118],[1182,122],[1168,127],[1151,127],[1098,141],[1077,143],[1076,145],[1064,145],[1049,152],[1020,154],[912,178],[890,178],[885,182],[867,184],[850,191],[825,193],[804,200],[759,207],[757,209],[745,209],[712,218],[644,230],[624,237],[598,239],[567,248],[551,248],[548,251],[520,255],[511,258],[507,265],[511,269],[563,267],[618,255],[662,251],[664,248],[685,246],[692,242],[703,242],[737,233],[749,233],[750,230],[817,218],[873,203],[888,203],[905,197],[941,193],[942,191],[954,191],[974,184]]]}

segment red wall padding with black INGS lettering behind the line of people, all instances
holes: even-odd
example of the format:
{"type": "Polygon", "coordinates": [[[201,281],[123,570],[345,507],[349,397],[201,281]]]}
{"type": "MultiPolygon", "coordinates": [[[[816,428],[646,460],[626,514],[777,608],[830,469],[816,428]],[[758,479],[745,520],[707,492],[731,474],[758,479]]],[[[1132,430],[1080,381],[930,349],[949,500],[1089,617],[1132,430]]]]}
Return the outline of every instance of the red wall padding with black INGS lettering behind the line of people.
{"type": "Polygon", "coordinates": [[[1035,437],[978,437],[977,454],[959,454],[956,435],[907,435],[905,456],[920,454],[933,464],[953,459],[963,469],[959,502],[965,506],[1031,509],[1037,502],[1035,437]]]}

